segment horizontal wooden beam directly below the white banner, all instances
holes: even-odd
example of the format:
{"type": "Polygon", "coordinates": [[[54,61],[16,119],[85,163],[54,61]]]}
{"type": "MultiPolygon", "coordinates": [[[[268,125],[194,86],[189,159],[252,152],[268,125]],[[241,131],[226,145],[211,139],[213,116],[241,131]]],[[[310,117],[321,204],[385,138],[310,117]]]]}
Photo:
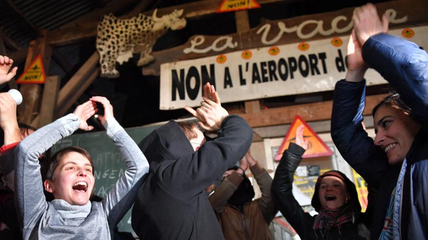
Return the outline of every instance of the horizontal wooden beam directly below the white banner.
{"type": "MultiPolygon", "coordinates": [[[[385,94],[367,96],[363,115],[371,114],[373,107],[385,96],[385,94]]],[[[255,128],[289,124],[297,114],[307,122],[328,120],[331,118],[332,107],[333,101],[325,101],[277,107],[261,110],[258,113],[244,113],[238,115],[242,116],[252,128],[255,128]]]]}

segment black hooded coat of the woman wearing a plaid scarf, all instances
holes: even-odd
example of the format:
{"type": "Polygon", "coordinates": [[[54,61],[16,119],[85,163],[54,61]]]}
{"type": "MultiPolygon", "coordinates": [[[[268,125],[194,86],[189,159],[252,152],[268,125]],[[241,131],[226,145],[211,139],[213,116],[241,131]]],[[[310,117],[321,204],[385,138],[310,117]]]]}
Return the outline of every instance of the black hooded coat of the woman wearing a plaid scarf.
{"type": "MultiPolygon", "coordinates": [[[[274,181],[272,183],[272,197],[279,211],[287,219],[290,225],[296,230],[300,238],[306,239],[368,239],[368,230],[364,224],[359,221],[361,206],[359,205],[357,191],[355,185],[343,173],[334,171],[342,176],[346,189],[351,197],[350,201],[356,211],[355,223],[345,223],[339,228],[332,227],[326,234],[313,229],[315,216],[305,213],[300,206],[299,202],[292,194],[293,175],[302,161],[302,155],[305,149],[301,146],[290,143],[288,149],[284,151],[281,162],[279,163],[276,171],[274,181]]],[[[318,197],[318,189],[320,178],[318,178],[315,194],[312,198],[312,206],[319,211],[320,202],[318,197]]]]}

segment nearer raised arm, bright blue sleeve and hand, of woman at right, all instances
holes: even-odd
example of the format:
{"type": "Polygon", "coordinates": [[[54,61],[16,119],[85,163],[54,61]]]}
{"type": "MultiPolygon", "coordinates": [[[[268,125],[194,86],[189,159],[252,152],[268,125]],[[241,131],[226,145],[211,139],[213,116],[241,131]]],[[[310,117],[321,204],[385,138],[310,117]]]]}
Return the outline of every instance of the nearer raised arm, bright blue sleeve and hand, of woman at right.
{"type": "Polygon", "coordinates": [[[428,123],[428,54],[416,44],[386,34],[385,17],[381,22],[372,4],[354,13],[356,36],[363,46],[362,56],[400,94],[412,109],[415,121],[428,123]]]}

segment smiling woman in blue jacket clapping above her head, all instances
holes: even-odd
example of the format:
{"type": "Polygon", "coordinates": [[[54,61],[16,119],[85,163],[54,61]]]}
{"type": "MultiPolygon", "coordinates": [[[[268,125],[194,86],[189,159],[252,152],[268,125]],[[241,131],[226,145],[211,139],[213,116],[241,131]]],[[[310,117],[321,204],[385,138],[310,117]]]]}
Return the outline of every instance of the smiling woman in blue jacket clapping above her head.
{"type": "Polygon", "coordinates": [[[357,8],[353,21],[348,72],[334,91],[333,141],[378,189],[370,238],[428,239],[428,54],[386,34],[388,21],[371,4],[357,8]],[[368,67],[397,92],[373,108],[374,141],[361,125],[368,67]]]}

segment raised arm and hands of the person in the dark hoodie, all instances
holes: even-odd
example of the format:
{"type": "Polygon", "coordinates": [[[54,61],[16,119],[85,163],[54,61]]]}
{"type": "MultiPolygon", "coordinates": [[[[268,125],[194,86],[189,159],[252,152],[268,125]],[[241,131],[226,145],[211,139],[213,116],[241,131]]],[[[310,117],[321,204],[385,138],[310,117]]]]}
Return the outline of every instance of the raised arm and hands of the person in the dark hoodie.
{"type": "MultiPolygon", "coordinates": [[[[218,97],[213,98],[220,102],[218,97]]],[[[185,195],[186,199],[180,200],[189,201],[244,157],[253,140],[253,130],[242,117],[229,115],[219,103],[208,98],[204,98],[196,111],[190,107],[185,109],[199,119],[199,126],[206,131],[221,130],[215,140],[207,141],[194,154],[174,161],[162,173],[168,176],[164,178],[163,188],[174,196],[185,195]]]]}

